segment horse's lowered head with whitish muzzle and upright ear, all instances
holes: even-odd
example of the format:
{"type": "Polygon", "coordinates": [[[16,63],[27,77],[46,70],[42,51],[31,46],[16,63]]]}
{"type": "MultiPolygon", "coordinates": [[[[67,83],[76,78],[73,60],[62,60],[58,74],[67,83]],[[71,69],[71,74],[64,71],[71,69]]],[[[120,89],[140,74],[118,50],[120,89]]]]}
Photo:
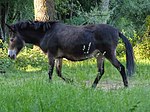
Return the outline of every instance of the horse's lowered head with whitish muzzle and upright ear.
{"type": "Polygon", "coordinates": [[[9,30],[9,46],[8,46],[8,57],[16,59],[17,54],[24,46],[24,40],[19,32],[13,27],[6,24],[9,30]]]}

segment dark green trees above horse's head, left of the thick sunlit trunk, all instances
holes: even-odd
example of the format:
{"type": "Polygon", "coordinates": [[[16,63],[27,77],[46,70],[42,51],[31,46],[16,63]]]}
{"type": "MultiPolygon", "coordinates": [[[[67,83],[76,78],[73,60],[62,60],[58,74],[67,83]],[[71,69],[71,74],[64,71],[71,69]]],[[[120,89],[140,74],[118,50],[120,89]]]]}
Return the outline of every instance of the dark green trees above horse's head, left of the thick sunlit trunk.
{"type": "MultiPolygon", "coordinates": [[[[33,18],[33,2],[31,0],[0,0],[0,39],[7,40],[5,23],[33,18]]],[[[0,45],[1,46],[1,45],[0,45]]]]}

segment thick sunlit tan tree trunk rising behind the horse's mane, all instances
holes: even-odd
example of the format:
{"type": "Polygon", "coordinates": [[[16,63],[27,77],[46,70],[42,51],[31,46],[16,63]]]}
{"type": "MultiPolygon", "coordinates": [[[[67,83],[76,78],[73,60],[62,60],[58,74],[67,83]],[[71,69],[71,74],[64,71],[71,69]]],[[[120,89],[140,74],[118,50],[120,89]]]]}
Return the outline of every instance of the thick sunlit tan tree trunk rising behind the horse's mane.
{"type": "Polygon", "coordinates": [[[49,21],[54,20],[55,9],[53,0],[34,0],[35,20],[49,21]]]}

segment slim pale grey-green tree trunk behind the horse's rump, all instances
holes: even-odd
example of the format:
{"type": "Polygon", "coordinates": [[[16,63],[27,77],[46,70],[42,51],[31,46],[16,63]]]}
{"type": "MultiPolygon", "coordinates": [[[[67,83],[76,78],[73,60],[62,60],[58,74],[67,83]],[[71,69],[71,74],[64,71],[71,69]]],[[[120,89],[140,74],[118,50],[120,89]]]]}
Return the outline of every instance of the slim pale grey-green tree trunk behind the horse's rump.
{"type": "Polygon", "coordinates": [[[101,2],[101,15],[102,15],[102,23],[103,24],[106,24],[110,17],[109,2],[110,2],[110,0],[102,0],[102,2],[101,2]]]}

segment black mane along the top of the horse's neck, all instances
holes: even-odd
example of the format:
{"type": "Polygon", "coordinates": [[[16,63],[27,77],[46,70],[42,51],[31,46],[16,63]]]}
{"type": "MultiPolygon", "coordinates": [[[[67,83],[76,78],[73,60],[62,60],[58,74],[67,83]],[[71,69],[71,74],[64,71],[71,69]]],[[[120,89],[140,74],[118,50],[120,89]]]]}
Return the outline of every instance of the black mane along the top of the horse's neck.
{"type": "Polygon", "coordinates": [[[11,25],[15,30],[28,29],[28,30],[42,30],[47,31],[51,28],[54,23],[58,23],[58,21],[23,21],[18,22],[16,24],[11,25]]]}

